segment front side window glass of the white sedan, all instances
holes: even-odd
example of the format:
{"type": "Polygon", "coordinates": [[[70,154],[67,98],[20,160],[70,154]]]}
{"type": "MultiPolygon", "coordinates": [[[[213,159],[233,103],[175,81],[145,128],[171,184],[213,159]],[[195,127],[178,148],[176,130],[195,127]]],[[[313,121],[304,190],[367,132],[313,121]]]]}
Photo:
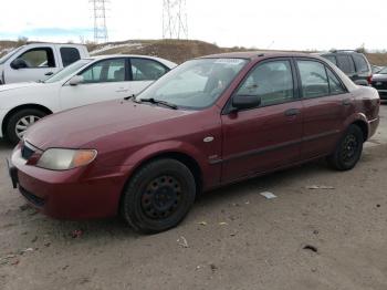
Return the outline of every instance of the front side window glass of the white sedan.
{"type": "Polygon", "coordinates": [[[84,83],[123,82],[125,81],[125,59],[97,62],[81,75],[84,83]]]}

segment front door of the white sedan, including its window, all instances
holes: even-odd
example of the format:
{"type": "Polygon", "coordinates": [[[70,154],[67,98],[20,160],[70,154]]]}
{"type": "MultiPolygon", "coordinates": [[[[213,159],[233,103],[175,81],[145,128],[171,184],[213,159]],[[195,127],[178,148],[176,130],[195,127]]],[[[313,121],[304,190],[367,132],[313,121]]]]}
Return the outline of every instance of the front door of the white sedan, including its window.
{"type": "Polygon", "coordinates": [[[67,82],[61,89],[62,110],[122,99],[129,95],[127,59],[115,58],[93,62],[79,73],[83,81],[77,85],[67,82]]]}

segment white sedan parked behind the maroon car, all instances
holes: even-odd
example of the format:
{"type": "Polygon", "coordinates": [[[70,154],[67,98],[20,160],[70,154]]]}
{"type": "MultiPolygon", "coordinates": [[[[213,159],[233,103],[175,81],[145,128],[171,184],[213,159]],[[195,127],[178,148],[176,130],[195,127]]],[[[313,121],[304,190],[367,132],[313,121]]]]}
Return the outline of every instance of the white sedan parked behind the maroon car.
{"type": "Polygon", "coordinates": [[[175,66],[153,56],[104,55],[74,62],[45,81],[1,85],[0,137],[17,144],[48,114],[137,94],[175,66]]]}

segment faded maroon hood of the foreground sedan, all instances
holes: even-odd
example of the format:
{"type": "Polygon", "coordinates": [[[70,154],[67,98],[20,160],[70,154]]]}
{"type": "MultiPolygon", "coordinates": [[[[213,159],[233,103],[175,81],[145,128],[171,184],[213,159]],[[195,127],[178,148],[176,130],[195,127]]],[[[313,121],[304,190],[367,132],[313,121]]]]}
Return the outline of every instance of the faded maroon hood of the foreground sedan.
{"type": "Polygon", "coordinates": [[[28,130],[24,139],[40,149],[85,148],[96,146],[93,143],[100,138],[127,134],[130,130],[190,113],[192,111],[115,100],[46,116],[28,130]]]}

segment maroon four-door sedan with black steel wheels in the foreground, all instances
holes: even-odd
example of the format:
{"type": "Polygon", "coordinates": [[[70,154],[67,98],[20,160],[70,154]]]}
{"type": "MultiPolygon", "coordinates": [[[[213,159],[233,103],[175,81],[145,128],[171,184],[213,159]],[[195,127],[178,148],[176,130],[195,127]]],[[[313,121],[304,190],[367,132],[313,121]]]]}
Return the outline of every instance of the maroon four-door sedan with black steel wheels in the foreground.
{"type": "Polygon", "coordinates": [[[177,66],[136,97],[45,117],[10,176],[42,213],[177,226],[200,191],[326,157],[348,170],[379,123],[375,89],[323,58],[255,52],[177,66]]]}

